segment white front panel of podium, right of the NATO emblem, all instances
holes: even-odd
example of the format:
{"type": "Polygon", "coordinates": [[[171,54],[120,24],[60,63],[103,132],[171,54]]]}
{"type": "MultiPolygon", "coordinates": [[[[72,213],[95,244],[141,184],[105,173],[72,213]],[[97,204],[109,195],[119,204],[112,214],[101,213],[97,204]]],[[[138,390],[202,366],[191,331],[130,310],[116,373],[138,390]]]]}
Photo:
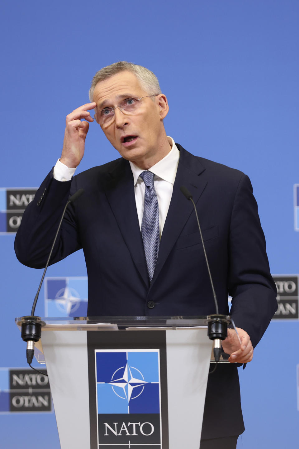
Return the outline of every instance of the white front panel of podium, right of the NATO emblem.
{"type": "Polygon", "coordinates": [[[212,341],[184,329],[166,333],[166,348],[169,448],[199,449],[212,341]]]}

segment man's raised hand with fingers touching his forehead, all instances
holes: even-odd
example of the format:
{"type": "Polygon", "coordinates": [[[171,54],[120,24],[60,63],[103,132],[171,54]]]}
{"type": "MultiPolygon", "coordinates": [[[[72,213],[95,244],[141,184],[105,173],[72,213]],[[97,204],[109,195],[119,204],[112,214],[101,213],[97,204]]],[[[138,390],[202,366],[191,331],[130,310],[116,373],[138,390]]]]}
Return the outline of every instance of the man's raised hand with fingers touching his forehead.
{"type": "Polygon", "coordinates": [[[89,110],[94,109],[96,103],[87,103],[73,110],[66,116],[65,138],[60,161],[69,168],[78,167],[84,155],[84,145],[89,123],[93,118],[89,110]],[[87,121],[81,121],[81,119],[87,121]]]}

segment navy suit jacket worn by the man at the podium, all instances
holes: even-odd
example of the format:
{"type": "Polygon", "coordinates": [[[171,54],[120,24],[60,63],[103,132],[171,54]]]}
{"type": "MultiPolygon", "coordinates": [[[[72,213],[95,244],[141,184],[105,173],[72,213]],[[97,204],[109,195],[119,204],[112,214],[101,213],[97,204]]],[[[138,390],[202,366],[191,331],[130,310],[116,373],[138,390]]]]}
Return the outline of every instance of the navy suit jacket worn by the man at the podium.
{"type": "MultiPolygon", "coordinates": [[[[72,181],[56,181],[49,173],[24,212],[15,241],[17,258],[30,267],[45,265],[69,194],[83,188],[84,194],[67,210],[51,263],[83,248],[88,316],[215,313],[193,206],[180,192],[185,185],[197,206],[219,313],[229,314],[230,294],[230,314],[256,346],[277,302],[250,180],[177,146],[178,171],[151,284],[133,175],[123,158],[82,172],[72,181]],[[148,301],[154,301],[154,308],[148,301]]],[[[218,366],[208,380],[202,438],[243,430],[237,367],[218,366]]]]}

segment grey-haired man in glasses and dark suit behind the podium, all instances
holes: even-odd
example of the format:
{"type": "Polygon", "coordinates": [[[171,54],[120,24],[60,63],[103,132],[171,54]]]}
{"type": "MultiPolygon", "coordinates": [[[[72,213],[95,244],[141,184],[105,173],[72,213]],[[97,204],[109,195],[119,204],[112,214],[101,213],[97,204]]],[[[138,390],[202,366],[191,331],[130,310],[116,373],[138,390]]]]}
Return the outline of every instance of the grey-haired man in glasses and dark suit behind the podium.
{"type": "Polygon", "coordinates": [[[195,214],[180,192],[185,185],[199,211],[219,313],[229,313],[230,293],[241,338],[240,347],[234,330],[228,331],[223,348],[231,364],[209,376],[201,448],[234,448],[244,430],[236,364],[251,361],[277,307],[250,180],[193,156],[166,136],[167,98],[144,67],[126,62],[105,67],[95,75],[90,95],[91,103],[66,118],[61,158],[24,213],[17,257],[28,266],[44,266],[69,194],[83,188],[66,213],[51,263],[83,248],[89,316],[215,313],[195,214]],[[73,177],[92,109],[122,158],[73,177]],[[152,185],[143,182],[144,172],[153,173],[152,185]],[[156,249],[145,237],[148,189],[158,214],[156,249]]]}

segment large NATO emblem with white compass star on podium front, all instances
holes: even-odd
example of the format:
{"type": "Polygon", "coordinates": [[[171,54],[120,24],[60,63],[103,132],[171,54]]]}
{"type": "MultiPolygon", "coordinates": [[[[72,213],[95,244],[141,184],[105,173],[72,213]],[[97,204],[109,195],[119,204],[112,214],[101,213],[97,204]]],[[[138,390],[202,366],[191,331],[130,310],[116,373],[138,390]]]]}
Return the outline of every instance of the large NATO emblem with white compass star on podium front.
{"type": "Polygon", "coordinates": [[[162,447],[159,356],[159,349],[95,350],[99,447],[162,447]]]}

